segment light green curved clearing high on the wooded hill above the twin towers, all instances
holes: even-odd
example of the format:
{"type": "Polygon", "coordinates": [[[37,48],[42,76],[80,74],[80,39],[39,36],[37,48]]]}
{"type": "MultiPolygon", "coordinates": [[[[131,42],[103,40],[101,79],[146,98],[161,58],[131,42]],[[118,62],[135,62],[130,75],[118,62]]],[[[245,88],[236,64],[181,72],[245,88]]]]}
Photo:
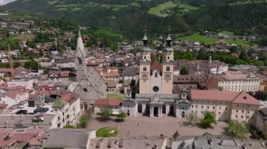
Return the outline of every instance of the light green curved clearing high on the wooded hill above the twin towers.
{"type": "Polygon", "coordinates": [[[160,11],[168,9],[168,8],[173,8],[176,6],[178,6],[177,3],[174,3],[172,1],[168,1],[166,3],[162,3],[162,4],[158,5],[157,7],[150,8],[150,10],[148,10],[148,13],[151,15],[157,15],[159,17],[167,17],[168,16],[167,13],[161,13],[160,11]]]}

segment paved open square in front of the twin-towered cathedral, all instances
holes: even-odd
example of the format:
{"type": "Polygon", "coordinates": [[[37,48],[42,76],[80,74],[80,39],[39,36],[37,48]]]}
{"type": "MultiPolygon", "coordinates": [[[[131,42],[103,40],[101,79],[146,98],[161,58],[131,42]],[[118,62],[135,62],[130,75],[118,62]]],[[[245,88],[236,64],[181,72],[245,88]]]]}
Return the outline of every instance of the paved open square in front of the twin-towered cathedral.
{"type": "Polygon", "coordinates": [[[93,115],[93,119],[89,122],[89,129],[100,129],[102,127],[117,127],[119,129],[118,136],[159,136],[164,134],[171,138],[176,131],[180,135],[200,135],[204,132],[210,134],[222,134],[223,128],[226,127],[226,122],[217,122],[213,125],[214,128],[202,129],[197,126],[185,126],[183,122],[187,122],[185,118],[174,118],[163,115],[162,118],[149,118],[142,115],[137,117],[127,117],[124,122],[115,122],[108,120],[101,122],[93,115]]]}

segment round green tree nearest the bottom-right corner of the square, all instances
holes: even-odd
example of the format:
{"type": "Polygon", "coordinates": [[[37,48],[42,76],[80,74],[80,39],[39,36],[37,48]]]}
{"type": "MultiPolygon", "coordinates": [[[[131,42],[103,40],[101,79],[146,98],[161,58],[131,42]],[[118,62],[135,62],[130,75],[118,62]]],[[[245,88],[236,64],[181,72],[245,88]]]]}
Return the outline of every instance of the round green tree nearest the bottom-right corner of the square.
{"type": "Polygon", "coordinates": [[[237,120],[230,120],[227,131],[236,138],[247,138],[249,136],[249,128],[247,125],[237,120]]]}

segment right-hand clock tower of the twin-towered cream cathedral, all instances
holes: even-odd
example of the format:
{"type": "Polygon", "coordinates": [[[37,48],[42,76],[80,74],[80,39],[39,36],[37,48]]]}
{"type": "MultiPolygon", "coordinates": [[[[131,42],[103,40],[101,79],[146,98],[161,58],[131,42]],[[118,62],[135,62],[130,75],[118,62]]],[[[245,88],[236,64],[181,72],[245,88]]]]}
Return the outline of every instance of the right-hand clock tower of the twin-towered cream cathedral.
{"type": "Polygon", "coordinates": [[[171,48],[170,29],[167,37],[166,48],[163,52],[162,61],[162,94],[172,94],[174,79],[174,50],[171,48]]]}

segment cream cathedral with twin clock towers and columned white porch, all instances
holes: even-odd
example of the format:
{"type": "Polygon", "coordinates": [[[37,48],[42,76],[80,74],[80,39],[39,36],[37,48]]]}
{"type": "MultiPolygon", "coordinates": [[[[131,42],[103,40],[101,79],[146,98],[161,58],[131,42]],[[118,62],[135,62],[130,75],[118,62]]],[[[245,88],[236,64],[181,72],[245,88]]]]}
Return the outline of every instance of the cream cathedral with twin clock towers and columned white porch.
{"type": "Polygon", "coordinates": [[[137,113],[149,117],[172,115],[183,118],[189,113],[190,101],[187,93],[173,94],[174,80],[174,50],[171,48],[171,36],[167,37],[167,44],[162,53],[162,64],[151,59],[152,49],[148,46],[146,33],[143,37],[142,59],[136,82],[139,92],[134,99],[131,90],[127,90],[126,99],[122,101],[122,111],[135,117],[137,113]]]}

